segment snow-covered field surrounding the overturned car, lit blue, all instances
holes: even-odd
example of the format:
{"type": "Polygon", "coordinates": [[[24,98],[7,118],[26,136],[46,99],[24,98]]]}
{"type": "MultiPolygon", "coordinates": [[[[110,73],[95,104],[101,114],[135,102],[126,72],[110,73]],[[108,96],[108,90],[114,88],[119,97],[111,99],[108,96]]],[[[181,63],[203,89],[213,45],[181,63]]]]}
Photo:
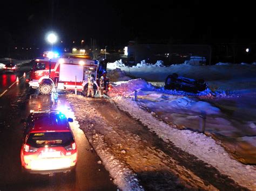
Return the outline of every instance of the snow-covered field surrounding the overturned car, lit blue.
{"type": "MultiPolygon", "coordinates": [[[[111,96],[129,97],[133,96],[134,90],[138,90],[140,107],[153,112],[167,124],[176,124],[178,129],[198,130],[201,120],[199,116],[206,115],[206,135],[221,140],[226,150],[239,161],[256,164],[256,147],[252,144],[256,133],[255,65],[228,63],[152,67],[142,62],[138,66],[123,67],[121,60],[115,63],[115,67],[123,70],[122,73],[153,81],[151,83],[159,87],[151,86],[142,79],[126,83],[115,78],[111,96]],[[210,89],[200,94],[165,90],[164,79],[170,73],[206,79],[210,89]]],[[[120,70],[112,72],[119,73],[120,70]]]]}

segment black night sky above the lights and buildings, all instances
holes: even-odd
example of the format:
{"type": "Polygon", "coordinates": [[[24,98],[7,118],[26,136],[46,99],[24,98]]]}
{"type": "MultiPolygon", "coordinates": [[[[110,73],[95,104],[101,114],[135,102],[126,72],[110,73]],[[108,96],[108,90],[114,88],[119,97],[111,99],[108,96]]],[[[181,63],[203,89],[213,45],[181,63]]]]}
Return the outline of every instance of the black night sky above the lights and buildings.
{"type": "Polygon", "coordinates": [[[250,1],[1,1],[0,37],[16,45],[45,44],[56,31],[65,42],[129,40],[171,43],[255,42],[256,12],[250,1]],[[224,3],[225,2],[225,3],[224,3]]]}

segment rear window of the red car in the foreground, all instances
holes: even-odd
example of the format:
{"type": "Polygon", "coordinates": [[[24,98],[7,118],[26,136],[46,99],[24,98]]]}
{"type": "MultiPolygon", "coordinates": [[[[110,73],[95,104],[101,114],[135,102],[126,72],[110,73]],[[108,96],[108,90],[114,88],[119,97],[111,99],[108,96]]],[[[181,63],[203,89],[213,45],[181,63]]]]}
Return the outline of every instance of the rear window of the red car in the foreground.
{"type": "Polygon", "coordinates": [[[28,141],[30,146],[39,148],[48,145],[51,146],[68,146],[74,142],[71,132],[37,132],[30,133],[28,141]]]}

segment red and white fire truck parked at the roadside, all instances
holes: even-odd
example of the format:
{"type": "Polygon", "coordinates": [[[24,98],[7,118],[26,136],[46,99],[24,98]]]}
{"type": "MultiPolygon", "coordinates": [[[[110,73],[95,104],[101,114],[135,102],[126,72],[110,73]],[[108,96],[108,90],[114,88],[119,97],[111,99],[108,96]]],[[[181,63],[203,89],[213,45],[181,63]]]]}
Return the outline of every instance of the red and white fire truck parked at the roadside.
{"type": "MultiPolygon", "coordinates": [[[[39,88],[41,94],[52,89],[77,89],[87,93],[88,78],[98,76],[98,61],[84,58],[38,58],[32,65],[29,86],[39,88]]],[[[96,90],[96,87],[95,87],[96,90]]]]}

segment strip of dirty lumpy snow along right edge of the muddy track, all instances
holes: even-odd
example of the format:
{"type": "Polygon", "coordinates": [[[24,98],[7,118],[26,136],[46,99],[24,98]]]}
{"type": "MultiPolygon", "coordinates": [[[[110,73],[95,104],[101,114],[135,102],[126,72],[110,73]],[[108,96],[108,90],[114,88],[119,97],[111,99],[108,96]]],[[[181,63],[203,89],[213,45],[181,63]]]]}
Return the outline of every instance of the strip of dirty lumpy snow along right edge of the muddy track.
{"type": "Polygon", "coordinates": [[[256,189],[256,168],[243,165],[231,159],[223,147],[214,139],[203,133],[189,130],[178,130],[164,122],[158,121],[152,114],[142,110],[131,98],[117,96],[113,98],[118,107],[138,119],[165,142],[172,142],[182,150],[195,155],[200,160],[217,168],[221,173],[230,176],[235,182],[249,189],[256,189]]]}

